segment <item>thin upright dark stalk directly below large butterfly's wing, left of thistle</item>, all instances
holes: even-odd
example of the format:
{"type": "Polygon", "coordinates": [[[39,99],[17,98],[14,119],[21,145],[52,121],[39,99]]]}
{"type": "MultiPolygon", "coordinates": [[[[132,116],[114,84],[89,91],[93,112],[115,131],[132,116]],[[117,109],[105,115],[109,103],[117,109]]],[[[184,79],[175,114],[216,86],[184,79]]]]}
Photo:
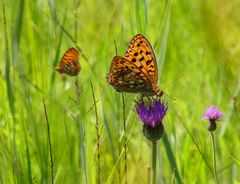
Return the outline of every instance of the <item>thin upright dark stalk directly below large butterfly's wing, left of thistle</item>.
{"type": "Polygon", "coordinates": [[[125,109],[125,99],[122,93],[122,108],[123,108],[123,132],[124,132],[124,176],[125,183],[127,184],[127,134],[126,134],[126,109],[125,109]]]}

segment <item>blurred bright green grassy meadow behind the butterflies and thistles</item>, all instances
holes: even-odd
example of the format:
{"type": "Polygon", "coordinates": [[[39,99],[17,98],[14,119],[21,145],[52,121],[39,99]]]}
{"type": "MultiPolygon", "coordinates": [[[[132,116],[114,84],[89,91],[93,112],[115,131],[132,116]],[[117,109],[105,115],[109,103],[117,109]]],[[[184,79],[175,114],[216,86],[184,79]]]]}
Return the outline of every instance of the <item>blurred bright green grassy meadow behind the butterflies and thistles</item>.
{"type": "Polygon", "coordinates": [[[139,94],[106,81],[143,34],[168,103],[157,182],[240,183],[239,0],[1,0],[0,183],[151,183],[139,94]],[[54,70],[70,47],[77,77],[54,70]],[[217,121],[216,173],[208,121],[217,121]]]}

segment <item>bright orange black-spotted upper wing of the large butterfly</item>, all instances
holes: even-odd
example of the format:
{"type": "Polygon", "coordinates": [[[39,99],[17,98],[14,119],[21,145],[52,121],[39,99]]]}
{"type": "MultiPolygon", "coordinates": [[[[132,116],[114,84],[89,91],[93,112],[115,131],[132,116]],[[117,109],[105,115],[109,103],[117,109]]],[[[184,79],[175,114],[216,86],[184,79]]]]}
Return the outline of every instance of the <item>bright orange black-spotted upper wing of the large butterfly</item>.
{"type": "Polygon", "coordinates": [[[156,57],[147,38],[141,34],[134,36],[124,57],[139,67],[149,78],[153,86],[157,85],[158,68],[156,57]]]}

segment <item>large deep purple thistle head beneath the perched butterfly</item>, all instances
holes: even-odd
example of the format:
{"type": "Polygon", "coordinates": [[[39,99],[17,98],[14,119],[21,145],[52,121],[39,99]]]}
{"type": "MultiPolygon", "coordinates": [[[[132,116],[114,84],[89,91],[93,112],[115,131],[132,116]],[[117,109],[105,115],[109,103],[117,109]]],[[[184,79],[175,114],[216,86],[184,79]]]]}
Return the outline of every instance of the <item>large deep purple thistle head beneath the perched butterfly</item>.
{"type": "Polygon", "coordinates": [[[136,111],[143,122],[143,134],[152,142],[158,141],[164,134],[162,120],[167,113],[168,105],[159,99],[140,100],[136,111]]]}

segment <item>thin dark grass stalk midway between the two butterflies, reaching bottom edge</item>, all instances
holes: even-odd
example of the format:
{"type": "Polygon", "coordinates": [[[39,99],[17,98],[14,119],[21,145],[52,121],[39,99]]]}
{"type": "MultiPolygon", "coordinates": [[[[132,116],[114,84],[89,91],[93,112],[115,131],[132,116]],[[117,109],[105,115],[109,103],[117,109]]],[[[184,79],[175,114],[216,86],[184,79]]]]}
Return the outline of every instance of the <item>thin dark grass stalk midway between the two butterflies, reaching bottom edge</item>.
{"type": "Polygon", "coordinates": [[[98,122],[98,113],[97,113],[97,102],[96,102],[96,97],[95,93],[93,90],[93,84],[91,82],[91,88],[92,88],[92,96],[93,96],[93,103],[94,103],[94,108],[95,108],[95,117],[96,117],[96,124],[95,124],[95,129],[96,129],[96,134],[97,134],[97,172],[98,172],[98,177],[97,177],[97,183],[101,183],[101,164],[100,164],[100,132],[99,132],[99,122],[98,122]]]}

